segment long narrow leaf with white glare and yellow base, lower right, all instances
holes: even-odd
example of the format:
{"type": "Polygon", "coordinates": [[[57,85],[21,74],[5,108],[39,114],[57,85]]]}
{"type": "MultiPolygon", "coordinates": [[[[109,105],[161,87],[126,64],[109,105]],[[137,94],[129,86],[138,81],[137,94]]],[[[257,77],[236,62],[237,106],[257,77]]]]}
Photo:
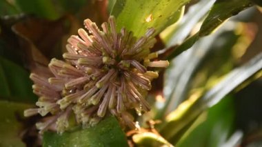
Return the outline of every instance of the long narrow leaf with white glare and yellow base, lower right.
{"type": "Polygon", "coordinates": [[[188,127],[201,112],[219,103],[225,95],[233,90],[246,86],[244,82],[253,81],[262,74],[262,53],[256,55],[243,66],[232,70],[223,80],[205,92],[204,95],[192,95],[191,99],[184,101],[179,107],[171,112],[165,119],[160,133],[168,141],[173,139],[181,130],[188,127]],[[173,128],[172,131],[170,128],[173,128]]]}

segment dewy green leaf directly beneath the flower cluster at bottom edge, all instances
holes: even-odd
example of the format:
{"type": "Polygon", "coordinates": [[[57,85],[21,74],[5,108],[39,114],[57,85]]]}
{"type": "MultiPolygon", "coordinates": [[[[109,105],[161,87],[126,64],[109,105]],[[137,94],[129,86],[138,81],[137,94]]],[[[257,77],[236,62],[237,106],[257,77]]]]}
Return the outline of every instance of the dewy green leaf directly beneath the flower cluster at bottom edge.
{"type": "Polygon", "coordinates": [[[77,128],[62,135],[44,133],[43,147],[45,146],[128,146],[128,142],[117,119],[109,117],[96,126],[77,128]]]}

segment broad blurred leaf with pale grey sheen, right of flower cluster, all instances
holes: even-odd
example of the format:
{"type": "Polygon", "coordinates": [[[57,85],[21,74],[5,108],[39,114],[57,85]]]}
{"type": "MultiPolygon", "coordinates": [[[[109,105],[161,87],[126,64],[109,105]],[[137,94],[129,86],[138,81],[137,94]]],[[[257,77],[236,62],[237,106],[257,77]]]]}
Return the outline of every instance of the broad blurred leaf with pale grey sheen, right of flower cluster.
{"type": "MultiPolygon", "coordinates": [[[[254,39],[250,37],[252,35],[248,33],[249,30],[250,28],[245,28],[242,23],[230,21],[214,35],[200,39],[188,51],[190,57],[186,61],[187,66],[179,70],[180,77],[177,81],[173,81],[175,83],[174,92],[172,92],[174,101],[170,106],[176,106],[186,99],[191,89],[210,88],[216,84],[219,77],[230,72],[254,39]],[[232,27],[231,30],[229,26],[232,27]]],[[[183,64],[179,60],[176,62],[183,64]]],[[[172,108],[174,110],[174,107],[172,108]]]]}

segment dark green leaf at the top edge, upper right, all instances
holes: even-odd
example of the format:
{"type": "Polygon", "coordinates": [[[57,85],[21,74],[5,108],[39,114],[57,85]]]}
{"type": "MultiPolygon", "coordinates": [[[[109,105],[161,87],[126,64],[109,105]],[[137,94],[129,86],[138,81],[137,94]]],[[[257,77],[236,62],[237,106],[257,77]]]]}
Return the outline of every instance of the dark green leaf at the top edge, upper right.
{"type": "Polygon", "coordinates": [[[218,0],[211,8],[208,17],[203,22],[199,31],[199,36],[203,37],[214,32],[228,18],[239,14],[242,10],[252,6],[250,0],[218,0]]]}

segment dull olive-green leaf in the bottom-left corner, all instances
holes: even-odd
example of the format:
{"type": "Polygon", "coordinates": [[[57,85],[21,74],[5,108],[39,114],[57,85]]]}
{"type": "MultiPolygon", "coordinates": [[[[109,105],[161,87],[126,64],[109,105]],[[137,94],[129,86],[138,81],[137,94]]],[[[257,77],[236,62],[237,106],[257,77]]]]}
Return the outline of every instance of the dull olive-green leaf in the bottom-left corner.
{"type": "Polygon", "coordinates": [[[0,146],[22,147],[26,146],[19,134],[22,124],[18,118],[23,118],[23,110],[30,108],[28,104],[18,104],[0,101],[0,146]]]}

